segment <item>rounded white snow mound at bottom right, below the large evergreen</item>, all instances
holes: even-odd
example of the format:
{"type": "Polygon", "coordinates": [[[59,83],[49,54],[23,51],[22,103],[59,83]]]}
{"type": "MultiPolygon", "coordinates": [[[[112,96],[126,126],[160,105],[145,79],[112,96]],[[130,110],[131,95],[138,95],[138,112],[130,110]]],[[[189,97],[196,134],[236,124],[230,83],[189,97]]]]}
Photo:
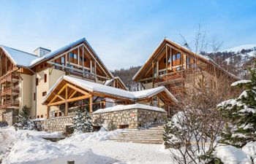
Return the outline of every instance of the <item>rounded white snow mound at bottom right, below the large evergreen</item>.
{"type": "Polygon", "coordinates": [[[222,160],[224,164],[251,164],[249,155],[241,149],[227,145],[215,149],[214,156],[222,160]]]}

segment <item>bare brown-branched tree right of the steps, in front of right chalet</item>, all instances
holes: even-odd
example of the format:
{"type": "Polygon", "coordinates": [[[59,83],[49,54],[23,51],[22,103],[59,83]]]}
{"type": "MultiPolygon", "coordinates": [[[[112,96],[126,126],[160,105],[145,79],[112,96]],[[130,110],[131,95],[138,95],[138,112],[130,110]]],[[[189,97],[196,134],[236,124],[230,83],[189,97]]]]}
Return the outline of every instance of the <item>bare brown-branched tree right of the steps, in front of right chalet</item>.
{"type": "Polygon", "coordinates": [[[186,94],[181,95],[176,114],[165,125],[165,143],[177,163],[207,163],[225,124],[217,104],[235,93],[225,75],[216,80],[201,71],[188,75],[185,83],[186,94]]]}

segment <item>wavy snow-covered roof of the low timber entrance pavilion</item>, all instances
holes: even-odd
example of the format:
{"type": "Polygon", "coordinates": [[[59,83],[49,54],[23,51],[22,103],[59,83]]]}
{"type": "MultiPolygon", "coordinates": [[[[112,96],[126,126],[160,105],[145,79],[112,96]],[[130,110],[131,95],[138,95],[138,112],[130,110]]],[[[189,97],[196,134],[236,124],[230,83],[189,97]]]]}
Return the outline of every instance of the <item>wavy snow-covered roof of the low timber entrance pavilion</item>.
{"type": "Polygon", "coordinates": [[[127,90],[116,88],[116,87],[110,87],[110,86],[101,85],[95,82],[89,82],[85,79],[79,79],[77,77],[62,76],[61,78],[59,78],[56,84],[53,85],[53,87],[48,91],[48,94],[45,96],[45,99],[42,103],[44,103],[48,99],[48,96],[50,95],[50,93],[63,79],[74,85],[82,87],[83,89],[88,90],[91,93],[103,93],[103,94],[112,95],[119,98],[127,98],[132,101],[138,101],[140,99],[150,98],[154,95],[157,95],[158,93],[165,92],[167,93],[170,99],[172,99],[174,102],[178,102],[176,98],[163,86],[155,87],[149,90],[140,90],[140,91],[130,92],[127,90]]]}

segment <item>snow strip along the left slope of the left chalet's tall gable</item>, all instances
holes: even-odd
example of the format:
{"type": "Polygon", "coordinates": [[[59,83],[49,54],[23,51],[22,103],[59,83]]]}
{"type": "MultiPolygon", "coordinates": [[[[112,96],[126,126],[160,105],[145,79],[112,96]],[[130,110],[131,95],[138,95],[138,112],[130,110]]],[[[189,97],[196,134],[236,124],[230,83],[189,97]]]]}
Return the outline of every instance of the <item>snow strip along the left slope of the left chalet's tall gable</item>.
{"type": "Polygon", "coordinates": [[[79,40],[77,40],[75,42],[69,43],[69,44],[65,45],[64,47],[61,47],[61,48],[59,48],[59,49],[57,49],[57,50],[55,50],[53,52],[50,52],[50,53],[48,53],[46,55],[43,55],[41,58],[37,58],[36,60],[32,60],[31,63],[30,63],[30,66],[34,66],[35,64],[37,64],[39,62],[42,62],[42,60],[51,58],[54,55],[56,55],[56,54],[58,54],[60,52],[63,52],[65,50],[69,49],[70,47],[75,46],[76,44],[80,44],[80,43],[85,42],[85,41],[86,41],[86,39],[82,38],[82,39],[79,39],[79,40]]]}

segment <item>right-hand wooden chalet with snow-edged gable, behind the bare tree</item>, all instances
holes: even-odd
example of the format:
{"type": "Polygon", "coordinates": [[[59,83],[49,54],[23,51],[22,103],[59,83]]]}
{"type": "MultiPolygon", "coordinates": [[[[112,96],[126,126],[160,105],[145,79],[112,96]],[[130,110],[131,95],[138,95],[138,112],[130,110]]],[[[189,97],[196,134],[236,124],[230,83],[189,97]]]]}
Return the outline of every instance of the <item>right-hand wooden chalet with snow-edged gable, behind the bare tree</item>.
{"type": "MultiPolygon", "coordinates": [[[[145,89],[165,86],[170,93],[177,95],[186,85],[184,79],[189,76],[194,77],[195,74],[192,75],[192,73],[198,71],[208,76],[225,75],[231,81],[237,79],[210,58],[195,54],[186,47],[165,38],[135,74],[133,80],[141,82],[145,89]]],[[[214,81],[209,83],[214,85],[214,81]]]]}

